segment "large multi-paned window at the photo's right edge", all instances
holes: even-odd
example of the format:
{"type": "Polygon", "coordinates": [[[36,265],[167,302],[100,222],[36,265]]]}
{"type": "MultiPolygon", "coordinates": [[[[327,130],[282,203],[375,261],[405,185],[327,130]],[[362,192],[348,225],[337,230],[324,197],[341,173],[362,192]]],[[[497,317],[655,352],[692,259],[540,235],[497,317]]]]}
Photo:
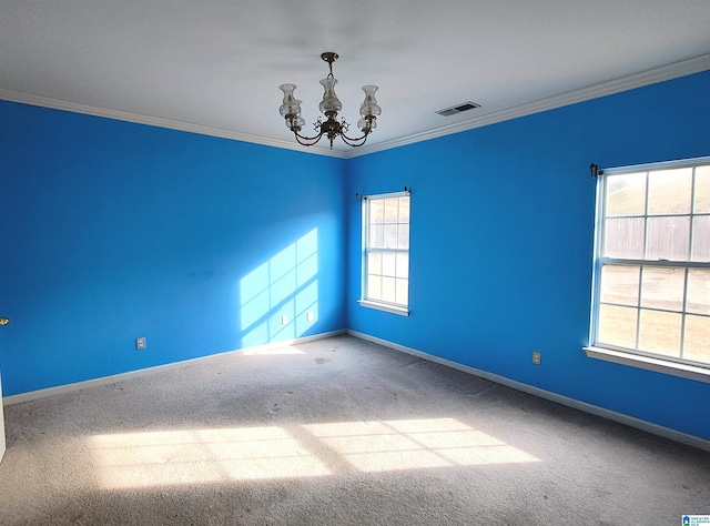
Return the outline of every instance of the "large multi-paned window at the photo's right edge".
{"type": "Polygon", "coordinates": [[[598,184],[591,345],[710,368],[710,159],[598,184]]]}

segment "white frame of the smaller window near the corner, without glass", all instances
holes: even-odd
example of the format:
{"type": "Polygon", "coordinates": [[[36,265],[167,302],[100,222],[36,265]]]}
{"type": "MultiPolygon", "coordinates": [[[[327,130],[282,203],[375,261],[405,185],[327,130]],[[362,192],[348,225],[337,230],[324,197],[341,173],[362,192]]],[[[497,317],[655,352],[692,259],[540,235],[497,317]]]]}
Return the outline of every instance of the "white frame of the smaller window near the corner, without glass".
{"type": "MultiPolygon", "coordinates": [[[[385,200],[385,199],[392,199],[392,198],[408,198],[409,200],[409,221],[407,222],[407,225],[409,225],[409,227],[412,226],[412,192],[408,189],[405,189],[404,191],[399,191],[399,192],[389,192],[389,193],[379,193],[379,194],[373,194],[373,195],[364,195],[362,198],[362,233],[361,233],[361,239],[362,239],[362,275],[361,275],[361,294],[359,294],[359,300],[357,303],[359,303],[361,306],[364,307],[368,307],[368,308],[375,308],[378,311],[385,311],[385,312],[389,312],[393,314],[399,314],[402,316],[408,316],[409,315],[409,269],[410,269],[410,241],[412,241],[412,231],[409,230],[409,235],[407,239],[407,249],[381,249],[381,247],[372,247],[371,246],[371,240],[369,240],[369,235],[371,235],[371,204],[373,201],[377,201],[377,200],[385,200]],[[368,290],[368,276],[369,276],[369,272],[368,272],[368,254],[372,252],[377,252],[377,253],[402,253],[402,254],[407,254],[407,303],[394,303],[394,302],[386,302],[384,300],[377,300],[377,299],[372,299],[368,297],[367,294],[367,290],[368,290]]],[[[402,224],[402,223],[398,223],[402,224]]]]}

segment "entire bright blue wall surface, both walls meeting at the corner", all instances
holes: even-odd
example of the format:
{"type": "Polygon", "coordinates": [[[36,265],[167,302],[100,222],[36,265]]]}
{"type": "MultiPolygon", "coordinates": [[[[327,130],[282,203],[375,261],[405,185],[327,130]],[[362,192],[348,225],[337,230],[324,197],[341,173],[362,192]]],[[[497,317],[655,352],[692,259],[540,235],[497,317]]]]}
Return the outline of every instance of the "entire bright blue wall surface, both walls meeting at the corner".
{"type": "Polygon", "coordinates": [[[710,72],[347,161],[0,102],[4,395],[349,327],[710,439],[710,384],[581,350],[589,163],[710,155],[707,93],[710,72]],[[354,194],[405,185],[409,317],[356,303],[354,194]]]}

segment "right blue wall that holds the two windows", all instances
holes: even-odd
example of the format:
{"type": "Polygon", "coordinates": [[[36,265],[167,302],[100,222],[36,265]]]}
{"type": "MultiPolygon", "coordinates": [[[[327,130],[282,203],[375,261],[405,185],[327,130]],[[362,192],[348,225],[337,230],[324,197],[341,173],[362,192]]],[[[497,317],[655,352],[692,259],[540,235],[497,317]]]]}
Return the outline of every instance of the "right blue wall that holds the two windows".
{"type": "Polygon", "coordinates": [[[582,351],[595,221],[588,166],[710,155],[708,93],[703,72],[352,160],[348,327],[710,439],[710,384],[582,351]],[[405,185],[409,317],[356,303],[354,194],[405,185]]]}

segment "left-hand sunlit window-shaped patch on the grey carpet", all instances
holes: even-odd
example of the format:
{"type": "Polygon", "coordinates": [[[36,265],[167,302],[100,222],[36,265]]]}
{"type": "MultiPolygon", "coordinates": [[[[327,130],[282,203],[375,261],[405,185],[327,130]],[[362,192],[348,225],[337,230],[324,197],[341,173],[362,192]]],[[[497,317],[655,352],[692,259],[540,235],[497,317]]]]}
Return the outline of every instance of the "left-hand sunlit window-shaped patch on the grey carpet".
{"type": "Polygon", "coordinates": [[[109,489],[331,473],[281,427],[97,435],[90,447],[101,485],[109,489]]]}

